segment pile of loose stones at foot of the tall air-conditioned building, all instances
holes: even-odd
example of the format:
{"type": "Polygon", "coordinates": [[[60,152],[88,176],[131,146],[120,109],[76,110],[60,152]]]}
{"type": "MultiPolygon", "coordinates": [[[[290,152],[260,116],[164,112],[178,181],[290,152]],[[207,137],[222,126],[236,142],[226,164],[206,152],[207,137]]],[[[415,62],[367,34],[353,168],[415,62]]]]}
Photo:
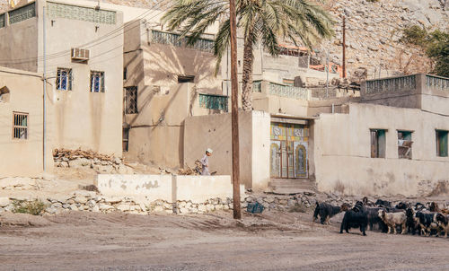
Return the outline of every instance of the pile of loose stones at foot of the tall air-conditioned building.
{"type": "Polygon", "coordinates": [[[93,151],[56,149],[53,160],[59,168],[91,168],[103,174],[134,174],[133,168],[119,157],[93,151]]]}

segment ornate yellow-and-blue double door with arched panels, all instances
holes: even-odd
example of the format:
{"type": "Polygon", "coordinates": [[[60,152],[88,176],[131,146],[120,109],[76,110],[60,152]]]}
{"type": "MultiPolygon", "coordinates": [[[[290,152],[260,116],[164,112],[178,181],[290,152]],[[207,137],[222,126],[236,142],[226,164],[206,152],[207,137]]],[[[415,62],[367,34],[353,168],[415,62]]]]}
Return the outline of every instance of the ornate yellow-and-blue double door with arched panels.
{"type": "Polygon", "coordinates": [[[271,178],[307,178],[309,129],[304,125],[271,123],[271,178]]]}

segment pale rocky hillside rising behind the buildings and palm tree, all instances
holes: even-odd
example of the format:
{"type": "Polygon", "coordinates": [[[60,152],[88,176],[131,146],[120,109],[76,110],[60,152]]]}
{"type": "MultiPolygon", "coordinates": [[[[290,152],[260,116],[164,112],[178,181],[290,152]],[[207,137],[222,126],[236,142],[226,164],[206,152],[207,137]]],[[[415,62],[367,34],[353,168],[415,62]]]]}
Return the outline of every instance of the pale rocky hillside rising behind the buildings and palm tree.
{"type": "MultiPolygon", "coordinates": [[[[97,1],[97,0],[92,0],[97,1]]],[[[401,29],[420,24],[429,29],[449,27],[448,0],[315,0],[333,14],[336,36],[324,41],[321,59],[329,51],[330,60],[340,64],[342,59],[342,17],[347,18],[348,73],[365,68],[368,77],[393,74],[429,72],[431,63],[418,48],[410,48],[398,42],[401,29]]],[[[136,7],[162,7],[170,0],[101,0],[110,4],[136,7]]],[[[0,0],[0,8],[6,9],[8,0],[0,0]]]]}

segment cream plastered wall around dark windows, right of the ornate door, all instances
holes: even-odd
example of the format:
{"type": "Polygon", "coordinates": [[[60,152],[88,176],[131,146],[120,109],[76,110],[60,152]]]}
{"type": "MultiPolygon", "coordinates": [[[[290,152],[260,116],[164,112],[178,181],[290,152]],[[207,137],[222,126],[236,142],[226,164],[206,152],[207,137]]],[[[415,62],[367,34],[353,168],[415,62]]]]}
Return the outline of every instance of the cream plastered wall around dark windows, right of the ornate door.
{"type": "Polygon", "coordinates": [[[449,179],[449,158],[436,157],[436,129],[449,117],[420,109],[349,104],[348,114],[321,114],[314,162],[321,191],[350,195],[423,195],[449,179]],[[371,158],[370,128],[388,129],[385,158],[371,158]],[[411,130],[412,160],[398,158],[397,130],[411,130]]]}

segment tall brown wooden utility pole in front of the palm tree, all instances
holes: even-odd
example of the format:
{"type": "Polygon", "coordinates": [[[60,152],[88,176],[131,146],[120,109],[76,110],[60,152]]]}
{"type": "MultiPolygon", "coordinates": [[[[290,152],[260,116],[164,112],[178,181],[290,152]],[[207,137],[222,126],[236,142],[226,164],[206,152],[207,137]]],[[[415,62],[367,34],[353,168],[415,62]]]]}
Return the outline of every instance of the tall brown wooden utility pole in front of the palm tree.
{"type": "Polygon", "coordinates": [[[235,0],[229,0],[231,31],[231,88],[232,88],[232,142],[233,142],[233,218],[241,219],[240,207],[240,154],[239,154],[239,81],[237,78],[237,15],[235,0]]]}

